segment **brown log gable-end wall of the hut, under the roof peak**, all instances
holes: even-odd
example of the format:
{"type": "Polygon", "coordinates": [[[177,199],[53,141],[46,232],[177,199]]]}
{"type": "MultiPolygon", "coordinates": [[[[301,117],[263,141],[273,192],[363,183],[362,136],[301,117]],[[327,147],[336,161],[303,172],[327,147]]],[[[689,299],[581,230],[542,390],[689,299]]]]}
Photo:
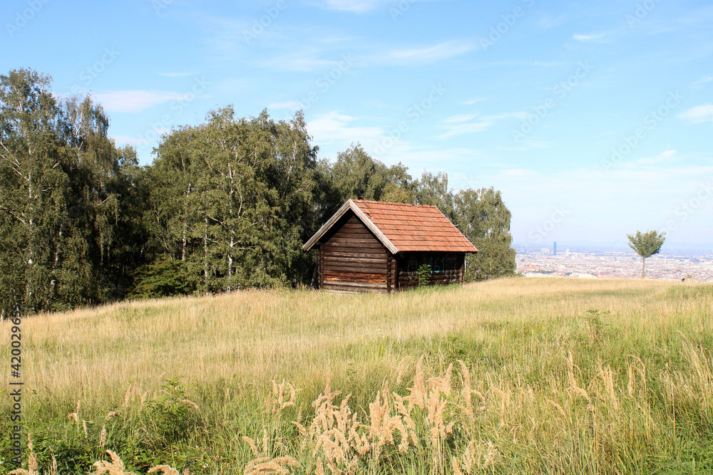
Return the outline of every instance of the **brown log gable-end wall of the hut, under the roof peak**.
{"type": "Polygon", "coordinates": [[[322,288],[388,292],[396,286],[389,253],[354,215],[320,246],[319,254],[322,288]]]}

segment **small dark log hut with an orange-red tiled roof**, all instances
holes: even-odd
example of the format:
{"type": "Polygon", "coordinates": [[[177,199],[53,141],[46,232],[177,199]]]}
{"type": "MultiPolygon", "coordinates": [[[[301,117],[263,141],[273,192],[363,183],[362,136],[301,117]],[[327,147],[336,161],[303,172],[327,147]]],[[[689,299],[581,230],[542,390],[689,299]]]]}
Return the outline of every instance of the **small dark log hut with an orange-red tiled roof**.
{"type": "Polygon", "coordinates": [[[390,293],[463,282],[466,253],[478,249],[434,206],[350,199],[302,249],[319,249],[319,287],[390,293]]]}

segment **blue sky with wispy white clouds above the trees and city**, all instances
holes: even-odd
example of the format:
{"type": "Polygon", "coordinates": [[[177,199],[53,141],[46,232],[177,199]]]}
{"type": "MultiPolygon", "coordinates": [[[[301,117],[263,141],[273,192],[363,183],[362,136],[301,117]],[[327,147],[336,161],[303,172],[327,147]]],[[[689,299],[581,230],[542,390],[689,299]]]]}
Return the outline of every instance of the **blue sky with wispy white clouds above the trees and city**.
{"type": "Polygon", "coordinates": [[[0,72],[91,93],[119,145],[232,104],[304,109],[453,189],[495,187],[515,242],[713,244],[713,5],[602,0],[6,0],[0,72]]]}

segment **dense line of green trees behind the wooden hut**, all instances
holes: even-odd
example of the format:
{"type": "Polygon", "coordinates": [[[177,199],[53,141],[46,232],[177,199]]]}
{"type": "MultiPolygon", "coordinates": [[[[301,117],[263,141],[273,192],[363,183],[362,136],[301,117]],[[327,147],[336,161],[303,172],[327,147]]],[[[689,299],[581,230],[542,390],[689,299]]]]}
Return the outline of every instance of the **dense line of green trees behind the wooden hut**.
{"type": "Polygon", "coordinates": [[[58,98],[34,71],[0,75],[0,305],[61,310],[128,297],[309,286],[302,244],[349,198],[434,204],[481,250],[466,278],[515,271],[500,192],[453,193],[352,145],[317,158],[289,122],[231,106],[176,127],[138,165],[91,97],[58,98]]]}

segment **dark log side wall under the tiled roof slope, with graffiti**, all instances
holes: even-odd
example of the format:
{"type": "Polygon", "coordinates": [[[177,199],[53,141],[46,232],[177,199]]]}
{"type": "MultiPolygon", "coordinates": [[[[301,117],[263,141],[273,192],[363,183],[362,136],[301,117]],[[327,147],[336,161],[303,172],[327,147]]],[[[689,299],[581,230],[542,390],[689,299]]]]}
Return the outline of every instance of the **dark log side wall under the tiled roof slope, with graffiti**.
{"type": "Polygon", "coordinates": [[[424,264],[431,266],[429,284],[463,282],[465,253],[409,252],[397,260],[399,288],[418,286],[417,272],[424,264]]]}

